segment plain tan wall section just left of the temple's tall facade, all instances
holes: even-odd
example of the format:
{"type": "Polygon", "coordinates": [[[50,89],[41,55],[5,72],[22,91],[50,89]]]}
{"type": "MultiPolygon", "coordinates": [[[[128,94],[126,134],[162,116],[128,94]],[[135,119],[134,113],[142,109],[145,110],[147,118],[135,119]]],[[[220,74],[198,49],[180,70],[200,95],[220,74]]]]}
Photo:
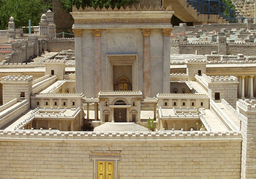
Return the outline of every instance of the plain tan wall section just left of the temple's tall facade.
{"type": "Polygon", "coordinates": [[[47,40],[48,52],[60,52],[62,50],[75,50],[75,39],[66,38],[58,40],[47,40]]]}

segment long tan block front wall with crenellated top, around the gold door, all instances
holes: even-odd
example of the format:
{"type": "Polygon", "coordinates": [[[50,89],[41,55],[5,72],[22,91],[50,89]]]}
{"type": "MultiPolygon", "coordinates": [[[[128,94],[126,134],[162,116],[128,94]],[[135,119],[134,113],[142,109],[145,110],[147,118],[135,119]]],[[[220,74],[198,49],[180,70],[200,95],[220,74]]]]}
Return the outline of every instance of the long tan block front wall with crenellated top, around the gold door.
{"type": "MultiPolygon", "coordinates": [[[[121,153],[115,170],[122,179],[240,178],[237,132],[0,131],[0,146],[3,179],[96,178],[96,165],[90,160],[94,151],[121,153]]],[[[101,159],[113,161],[113,157],[101,159]]]]}

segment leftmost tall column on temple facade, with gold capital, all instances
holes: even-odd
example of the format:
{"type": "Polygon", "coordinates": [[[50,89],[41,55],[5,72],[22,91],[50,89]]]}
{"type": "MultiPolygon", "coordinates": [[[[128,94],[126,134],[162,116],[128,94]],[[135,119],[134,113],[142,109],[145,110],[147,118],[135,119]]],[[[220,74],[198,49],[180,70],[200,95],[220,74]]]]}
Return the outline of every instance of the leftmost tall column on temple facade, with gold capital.
{"type": "MultiPolygon", "coordinates": [[[[83,74],[82,73],[82,29],[73,29],[75,33],[75,49],[76,49],[76,74],[83,74]]],[[[81,93],[85,92],[83,87],[83,80],[82,78],[86,78],[85,76],[81,75],[81,78],[76,78],[77,81],[80,83],[76,83],[76,92],[81,93]]]]}

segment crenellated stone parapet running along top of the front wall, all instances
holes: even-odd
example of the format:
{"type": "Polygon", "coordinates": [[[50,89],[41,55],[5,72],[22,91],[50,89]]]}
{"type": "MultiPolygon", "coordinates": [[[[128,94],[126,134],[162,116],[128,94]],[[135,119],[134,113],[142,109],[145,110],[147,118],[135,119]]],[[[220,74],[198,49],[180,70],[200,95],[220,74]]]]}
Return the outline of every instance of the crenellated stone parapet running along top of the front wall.
{"type": "Polygon", "coordinates": [[[1,138],[30,138],[30,139],[103,139],[103,140],[151,140],[151,139],[236,139],[242,140],[240,131],[163,131],[163,132],[85,132],[85,131],[51,131],[51,130],[0,130],[1,138]]]}

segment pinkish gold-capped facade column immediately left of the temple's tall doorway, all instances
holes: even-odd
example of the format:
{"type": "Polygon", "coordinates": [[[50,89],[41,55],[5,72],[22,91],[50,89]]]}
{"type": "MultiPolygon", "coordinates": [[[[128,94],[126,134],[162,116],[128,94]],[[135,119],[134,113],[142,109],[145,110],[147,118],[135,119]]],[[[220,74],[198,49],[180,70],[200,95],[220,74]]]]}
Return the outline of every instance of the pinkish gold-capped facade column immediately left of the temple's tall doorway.
{"type": "Polygon", "coordinates": [[[94,97],[102,90],[101,76],[101,32],[102,29],[93,29],[94,34],[94,97]]]}

